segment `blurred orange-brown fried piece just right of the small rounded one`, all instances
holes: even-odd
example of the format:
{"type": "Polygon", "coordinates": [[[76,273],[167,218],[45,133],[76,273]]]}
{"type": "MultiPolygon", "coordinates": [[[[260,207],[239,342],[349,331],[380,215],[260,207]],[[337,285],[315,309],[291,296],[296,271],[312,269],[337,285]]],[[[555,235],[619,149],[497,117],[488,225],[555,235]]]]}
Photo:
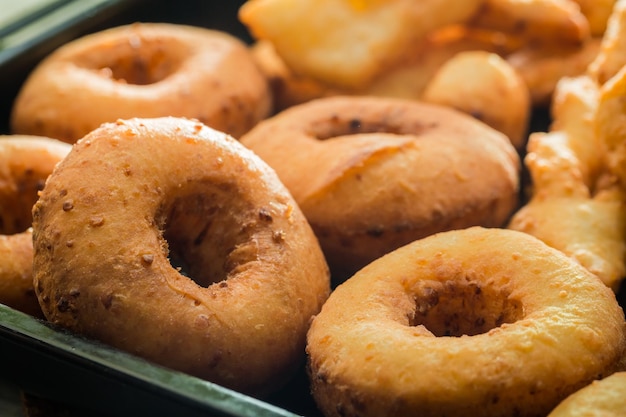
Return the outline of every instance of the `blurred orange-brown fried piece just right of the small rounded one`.
{"type": "Polygon", "coordinates": [[[584,74],[600,43],[600,38],[592,38],[580,46],[526,44],[505,59],[528,86],[533,106],[549,107],[559,80],[584,74]]]}

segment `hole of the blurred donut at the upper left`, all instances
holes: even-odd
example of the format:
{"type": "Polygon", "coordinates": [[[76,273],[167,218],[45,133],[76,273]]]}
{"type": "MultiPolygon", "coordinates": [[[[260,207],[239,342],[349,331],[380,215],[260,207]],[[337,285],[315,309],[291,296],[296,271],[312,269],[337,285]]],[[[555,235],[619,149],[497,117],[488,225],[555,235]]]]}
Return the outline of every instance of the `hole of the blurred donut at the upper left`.
{"type": "Polygon", "coordinates": [[[174,39],[131,37],[113,44],[105,52],[84,59],[85,67],[99,76],[132,85],[149,85],[165,80],[182,65],[187,48],[174,39]]]}

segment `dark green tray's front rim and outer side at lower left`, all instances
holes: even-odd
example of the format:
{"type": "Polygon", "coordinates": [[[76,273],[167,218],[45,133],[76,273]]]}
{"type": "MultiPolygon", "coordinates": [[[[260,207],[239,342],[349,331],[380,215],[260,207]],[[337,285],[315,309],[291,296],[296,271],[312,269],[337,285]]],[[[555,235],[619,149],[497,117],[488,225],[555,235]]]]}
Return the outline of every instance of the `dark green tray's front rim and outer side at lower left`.
{"type": "Polygon", "coordinates": [[[26,392],[102,416],[294,417],[0,304],[0,372],[26,392]]]}

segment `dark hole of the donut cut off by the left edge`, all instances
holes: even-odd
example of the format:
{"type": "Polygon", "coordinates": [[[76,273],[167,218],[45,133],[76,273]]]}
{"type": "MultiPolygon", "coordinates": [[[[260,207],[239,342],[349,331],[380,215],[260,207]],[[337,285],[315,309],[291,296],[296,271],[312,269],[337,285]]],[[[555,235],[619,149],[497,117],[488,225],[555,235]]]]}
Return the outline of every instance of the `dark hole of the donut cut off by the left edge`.
{"type": "Polygon", "coordinates": [[[45,176],[32,169],[11,167],[8,176],[0,176],[0,234],[23,233],[33,223],[32,210],[45,176]]]}

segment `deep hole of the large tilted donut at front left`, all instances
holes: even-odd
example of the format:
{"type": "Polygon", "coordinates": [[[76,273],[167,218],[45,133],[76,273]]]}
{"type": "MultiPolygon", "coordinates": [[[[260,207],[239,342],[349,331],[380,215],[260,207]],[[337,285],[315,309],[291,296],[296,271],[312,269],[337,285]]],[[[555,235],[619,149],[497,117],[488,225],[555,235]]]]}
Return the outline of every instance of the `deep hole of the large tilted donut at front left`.
{"type": "Polygon", "coordinates": [[[259,222],[234,185],[191,186],[165,210],[163,237],[170,263],[202,287],[224,281],[258,259],[259,222]]]}

